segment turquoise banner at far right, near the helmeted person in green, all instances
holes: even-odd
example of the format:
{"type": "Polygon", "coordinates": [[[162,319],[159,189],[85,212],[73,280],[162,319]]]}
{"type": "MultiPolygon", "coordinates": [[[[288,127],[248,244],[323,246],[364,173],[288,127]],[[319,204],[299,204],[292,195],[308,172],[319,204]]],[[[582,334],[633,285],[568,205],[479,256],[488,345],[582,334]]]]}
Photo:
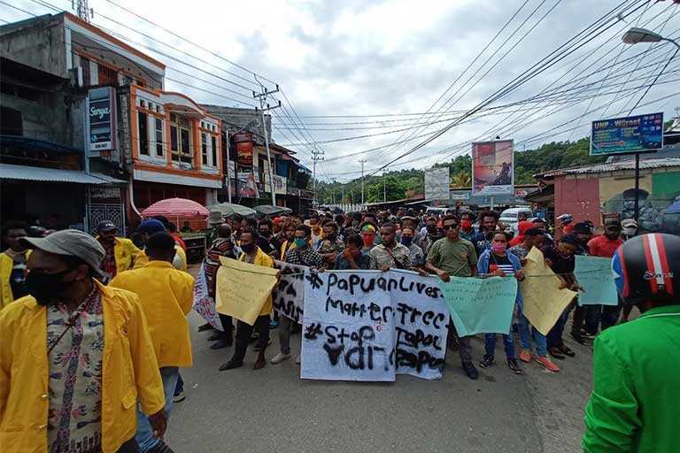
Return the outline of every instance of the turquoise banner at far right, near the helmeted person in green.
{"type": "Polygon", "coordinates": [[[579,305],[618,305],[612,258],[577,255],[575,274],[578,284],[583,287],[578,293],[579,305]]]}

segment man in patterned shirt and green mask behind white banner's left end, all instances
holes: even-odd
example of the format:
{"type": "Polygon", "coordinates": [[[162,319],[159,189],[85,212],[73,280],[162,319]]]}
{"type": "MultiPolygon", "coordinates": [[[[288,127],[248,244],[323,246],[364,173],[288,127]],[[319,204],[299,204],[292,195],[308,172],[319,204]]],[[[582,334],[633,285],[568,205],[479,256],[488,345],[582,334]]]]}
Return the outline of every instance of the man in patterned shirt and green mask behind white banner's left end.
{"type": "MultiPolygon", "coordinates": [[[[323,265],[321,255],[312,248],[312,229],[306,225],[300,225],[295,229],[295,248],[286,253],[285,261],[291,265],[305,265],[313,269],[323,265]]],[[[279,321],[279,344],[281,352],[272,357],[273,364],[279,364],[290,358],[290,329],[292,320],[286,316],[281,316],[279,321]]],[[[295,359],[296,364],[300,364],[300,355],[295,359]]]]}

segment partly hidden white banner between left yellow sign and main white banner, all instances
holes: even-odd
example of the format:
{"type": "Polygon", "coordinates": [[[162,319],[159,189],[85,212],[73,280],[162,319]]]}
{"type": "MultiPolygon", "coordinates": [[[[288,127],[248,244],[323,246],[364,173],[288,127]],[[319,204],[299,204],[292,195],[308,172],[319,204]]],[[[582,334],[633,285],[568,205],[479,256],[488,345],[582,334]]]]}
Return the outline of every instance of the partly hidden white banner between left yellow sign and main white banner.
{"type": "Polygon", "coordinates": [[[274,269],[281,271],[281,279],[272,291],[274,310],[302,324],[302,313],[305,308],[305,270],[308,267],[274,260],[274,269]]]}

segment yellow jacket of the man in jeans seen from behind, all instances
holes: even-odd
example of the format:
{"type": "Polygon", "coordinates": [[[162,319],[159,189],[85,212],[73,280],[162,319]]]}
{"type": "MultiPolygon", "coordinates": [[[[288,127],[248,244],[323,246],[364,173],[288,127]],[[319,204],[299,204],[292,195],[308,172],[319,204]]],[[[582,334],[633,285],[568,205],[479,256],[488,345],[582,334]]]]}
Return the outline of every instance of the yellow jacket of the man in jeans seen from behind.
{"type": "Polygon", "coordinates": [[[139,296],[158,366],[191,366],[186,316],[194,303],[194,278],[166,261],[150,261],[109,283],[139,296]]]}

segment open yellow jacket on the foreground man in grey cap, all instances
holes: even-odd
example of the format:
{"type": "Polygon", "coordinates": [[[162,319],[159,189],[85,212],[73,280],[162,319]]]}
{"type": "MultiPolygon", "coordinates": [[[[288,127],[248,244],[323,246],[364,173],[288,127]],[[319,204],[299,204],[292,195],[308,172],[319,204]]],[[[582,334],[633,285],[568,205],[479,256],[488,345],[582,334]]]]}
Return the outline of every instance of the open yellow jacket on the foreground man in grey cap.
{"type": "MultiPolygon", "coordinates": [[[[104,287],[102,450],[114,452],[137,429],[136,402],[165,406],[163,381],[139,299],[104,287]]],[[[47,451],[47,311],[33,296],[0,311],[0,446],[4,453],[47,451]]]]}

